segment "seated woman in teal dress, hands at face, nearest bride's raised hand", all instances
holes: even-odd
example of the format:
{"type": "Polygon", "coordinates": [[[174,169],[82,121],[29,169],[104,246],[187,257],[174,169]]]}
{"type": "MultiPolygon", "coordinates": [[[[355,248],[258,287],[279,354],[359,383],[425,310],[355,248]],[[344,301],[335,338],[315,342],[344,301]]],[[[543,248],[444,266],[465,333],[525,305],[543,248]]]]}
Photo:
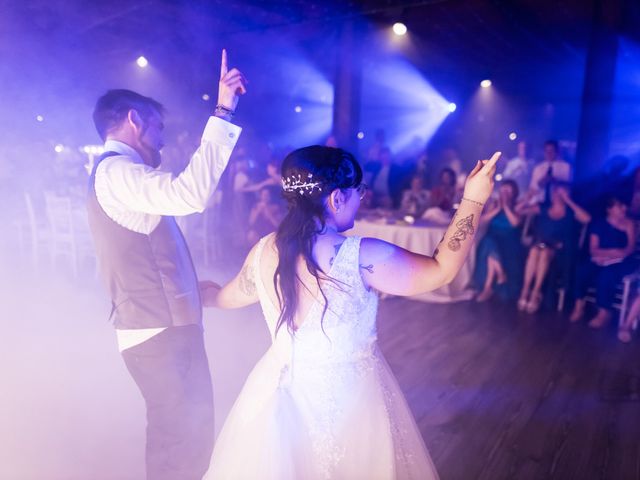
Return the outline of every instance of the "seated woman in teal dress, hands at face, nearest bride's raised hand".
{"type": "Polygon", "coordinates": [[[476,301],[484,302],[494,293],[504,300],[515,300],[522,279],[523,253],[520,241],[521,216],[515,211],[518,185],[505,180],[498,187],[498,199],[489,205],[480,221],[488,223],[476,253],[473,284],[480,294],[476,301]]]}

